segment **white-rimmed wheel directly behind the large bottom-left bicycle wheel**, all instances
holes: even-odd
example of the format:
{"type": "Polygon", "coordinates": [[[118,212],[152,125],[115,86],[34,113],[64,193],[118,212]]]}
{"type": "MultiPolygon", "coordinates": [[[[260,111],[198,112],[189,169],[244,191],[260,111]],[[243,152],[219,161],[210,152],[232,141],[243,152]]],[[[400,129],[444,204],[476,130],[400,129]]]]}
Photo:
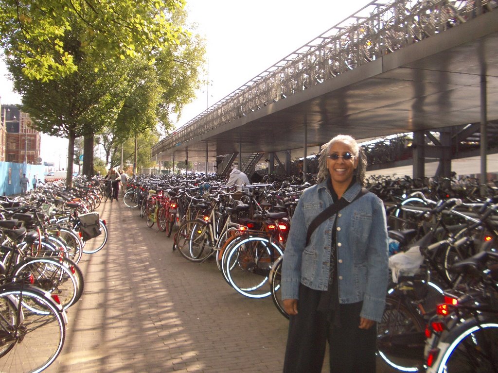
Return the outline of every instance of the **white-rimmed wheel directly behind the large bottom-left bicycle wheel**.
{"type": "Polygon", "coordinates": [[[14,269],[14,275],[57,296],[64,309],[72,306],[83,291],[79,292],[79,284],[71,270],[51,258],[29,259],[14,269]]]}

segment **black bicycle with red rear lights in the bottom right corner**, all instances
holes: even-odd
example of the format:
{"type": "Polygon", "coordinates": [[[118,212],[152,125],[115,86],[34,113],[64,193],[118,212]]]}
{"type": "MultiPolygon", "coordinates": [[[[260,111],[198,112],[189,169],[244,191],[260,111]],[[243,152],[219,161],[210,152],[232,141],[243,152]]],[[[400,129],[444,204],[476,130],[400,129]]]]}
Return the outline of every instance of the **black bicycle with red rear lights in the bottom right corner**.
{"type": "Polygon", "coordinates": [[[450,269],[472,280],[445,292],[438,315],[427,325],[428,373],[498,371],[497,268],[498,254],[481,252],[450,269]]]}

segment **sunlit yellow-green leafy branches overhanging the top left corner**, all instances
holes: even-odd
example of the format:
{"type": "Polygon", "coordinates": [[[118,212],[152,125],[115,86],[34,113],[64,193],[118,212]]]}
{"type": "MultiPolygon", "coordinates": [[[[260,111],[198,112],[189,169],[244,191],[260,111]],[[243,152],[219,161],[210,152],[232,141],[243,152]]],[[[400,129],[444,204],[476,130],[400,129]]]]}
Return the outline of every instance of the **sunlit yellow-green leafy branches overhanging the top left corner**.
{"type": "Polygon", "coordinates": [[[29,79],[49,81],[79,69],[78,54],[97,69],[137,55],[154,61],[153,52],[188,35],[171,17],[184,0],[1,0],[0,46],[23,65],[29,79]],[[79,45],[64,38],[77,30],[79,45]]]}

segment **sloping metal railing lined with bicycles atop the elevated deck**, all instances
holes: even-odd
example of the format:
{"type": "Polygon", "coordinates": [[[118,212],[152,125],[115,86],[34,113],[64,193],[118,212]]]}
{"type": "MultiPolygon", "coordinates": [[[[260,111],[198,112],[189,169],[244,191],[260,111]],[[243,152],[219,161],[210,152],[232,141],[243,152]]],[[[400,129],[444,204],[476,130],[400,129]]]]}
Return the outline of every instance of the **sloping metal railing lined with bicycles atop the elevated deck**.
{"type": "Polygon", "coordinates": [[[496,0],[374,0],[175,130],[152,155],[497,6],[496,0]]]}

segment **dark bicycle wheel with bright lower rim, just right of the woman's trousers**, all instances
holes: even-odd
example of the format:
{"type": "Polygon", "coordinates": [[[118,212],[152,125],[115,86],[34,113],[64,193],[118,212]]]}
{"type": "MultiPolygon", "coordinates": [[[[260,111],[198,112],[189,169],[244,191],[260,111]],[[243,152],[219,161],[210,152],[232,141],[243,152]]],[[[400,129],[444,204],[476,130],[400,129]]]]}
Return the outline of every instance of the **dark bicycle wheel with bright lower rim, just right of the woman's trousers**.
{"type": "Polygon", "coordinates": [[[377,355],[383,362],[402,372],[419,372],[423,364],[423,333],[423,320],[398,298],[387,296],[382,320],[377,323],[377,355]],[[420,339],[422,350],[403,345],[408,338],[420,339]],[[407,353],[413,353],[413,356],[407,353]]]}

